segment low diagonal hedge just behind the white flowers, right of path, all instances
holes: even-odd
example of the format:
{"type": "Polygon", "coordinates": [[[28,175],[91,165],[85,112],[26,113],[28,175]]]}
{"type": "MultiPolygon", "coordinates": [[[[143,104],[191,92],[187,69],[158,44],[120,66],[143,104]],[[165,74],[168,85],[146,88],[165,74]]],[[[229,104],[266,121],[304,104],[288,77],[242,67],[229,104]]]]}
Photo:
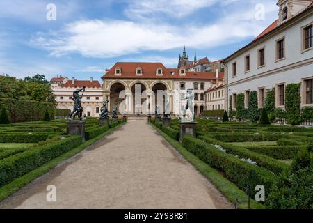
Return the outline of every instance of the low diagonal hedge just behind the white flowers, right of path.
{"type": "Polygon", "coordinates": [[[216,139],[211,139],[209,137],[199,137],[199,139],[202,139],[209,144],[220,145],[226,150],[227,153],[230,153],[232,155],[238,155],[240,158],[250,159],[256,162],[259,167],[264,167],[275,174],[280,174],[283,171],[289,169],[288,164],[278,162],[277,160],[274,160],[272,157],[268,157],[267,155],[255,153],[248,150],[247,148],[244,148],[243,146],[226,144],[216,139]]]}

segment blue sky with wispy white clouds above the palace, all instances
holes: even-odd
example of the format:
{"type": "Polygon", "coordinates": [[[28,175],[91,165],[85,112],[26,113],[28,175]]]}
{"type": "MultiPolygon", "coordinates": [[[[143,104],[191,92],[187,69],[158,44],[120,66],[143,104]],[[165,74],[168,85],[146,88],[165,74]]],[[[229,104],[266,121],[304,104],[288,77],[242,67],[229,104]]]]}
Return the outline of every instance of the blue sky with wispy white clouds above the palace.
{"type": "Polygon", "coordinates": [[[100,80],[117,61],[176,67],[183,45],[191,59],[223,59],[278,17],[276,2],[1,0],[0,74],[100,80]]]}

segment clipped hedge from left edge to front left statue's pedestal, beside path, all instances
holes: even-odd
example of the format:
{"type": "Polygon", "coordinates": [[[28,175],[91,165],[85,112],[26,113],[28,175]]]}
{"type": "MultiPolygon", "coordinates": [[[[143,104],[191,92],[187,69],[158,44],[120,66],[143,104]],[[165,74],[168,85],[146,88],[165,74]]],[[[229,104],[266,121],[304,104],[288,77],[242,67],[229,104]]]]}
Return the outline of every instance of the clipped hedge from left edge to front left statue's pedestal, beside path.
{"type": "Polygon", "coordinates": [[[0,187],[72,150],[81,141],[81,137],[69,137],[0,160],[0,187]]]}

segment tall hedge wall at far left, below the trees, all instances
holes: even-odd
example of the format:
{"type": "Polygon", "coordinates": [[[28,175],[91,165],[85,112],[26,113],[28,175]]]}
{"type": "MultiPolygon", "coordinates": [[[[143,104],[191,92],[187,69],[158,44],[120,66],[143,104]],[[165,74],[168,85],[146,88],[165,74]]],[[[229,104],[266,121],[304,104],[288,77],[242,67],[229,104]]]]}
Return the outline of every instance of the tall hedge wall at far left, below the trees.
{"type": "Polygon", "coordinates": [[[51,119],[54,119],[56,114],[56,108],[50,102],[0,98],[0,107],[3,105],[8,109],[11,123],[41,121],[46,110],[49,112],[51,119]]]}

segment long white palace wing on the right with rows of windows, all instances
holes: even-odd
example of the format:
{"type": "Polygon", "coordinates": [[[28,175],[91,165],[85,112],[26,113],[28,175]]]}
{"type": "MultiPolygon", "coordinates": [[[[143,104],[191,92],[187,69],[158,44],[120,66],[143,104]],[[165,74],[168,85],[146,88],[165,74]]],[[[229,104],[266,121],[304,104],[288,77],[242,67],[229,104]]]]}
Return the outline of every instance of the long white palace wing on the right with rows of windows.
{"type": "Polygon", "coordinates": [[[259,107],[266,92],[275,89],[275,105],[284,109],[286,86],[300,83],[301,107],[313,106],[313,3],[312,0],[278,1],[275,20],[255,40],[224,59],[227,89],[225,105],[232,97],[257,91],[259,107]]]}

